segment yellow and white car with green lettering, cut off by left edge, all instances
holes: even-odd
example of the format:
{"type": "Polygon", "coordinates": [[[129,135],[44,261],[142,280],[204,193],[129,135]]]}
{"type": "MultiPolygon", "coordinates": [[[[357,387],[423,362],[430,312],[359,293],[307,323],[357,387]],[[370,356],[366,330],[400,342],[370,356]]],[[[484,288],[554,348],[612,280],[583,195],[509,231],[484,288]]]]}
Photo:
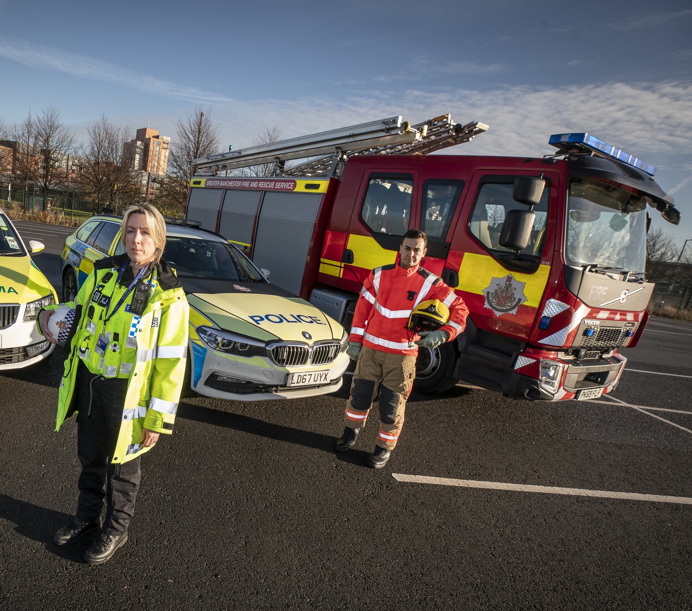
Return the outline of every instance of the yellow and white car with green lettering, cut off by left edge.
{"type": "Polygon", "coordinates": [[[37,312],[57,302],[53,285],[31,260],[43,249],[35,240],[27,248],[0,210],[0,370],[33,365],[53,352],[36,327],[37,312]]]}

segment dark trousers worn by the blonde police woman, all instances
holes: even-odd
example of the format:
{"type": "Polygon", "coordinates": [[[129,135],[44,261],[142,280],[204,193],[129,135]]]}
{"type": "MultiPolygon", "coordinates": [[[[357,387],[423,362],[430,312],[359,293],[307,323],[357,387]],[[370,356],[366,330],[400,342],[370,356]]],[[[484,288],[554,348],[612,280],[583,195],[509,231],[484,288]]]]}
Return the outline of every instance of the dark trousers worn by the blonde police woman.
{"type": "Polygon", "coordinates": [[[107,502],[103,532],[127,531],[140,483],[140,459],[112,464],[127,378],[104,378],[80,363],[78,372],[77,451],[82,464],[77,517],[96,520],[107,502]]]}

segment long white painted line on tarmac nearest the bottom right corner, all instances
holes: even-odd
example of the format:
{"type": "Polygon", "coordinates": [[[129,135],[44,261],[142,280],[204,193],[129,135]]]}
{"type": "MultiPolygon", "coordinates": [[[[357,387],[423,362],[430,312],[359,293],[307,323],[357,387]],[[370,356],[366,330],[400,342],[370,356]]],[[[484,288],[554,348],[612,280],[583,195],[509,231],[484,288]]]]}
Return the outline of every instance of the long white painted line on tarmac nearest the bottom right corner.
{"type": "Polygon", "coordinates": [[[634,492],[610,492],[607,490],[588,490],[581,488],[558,488],[554,486],[531,486],[529,484],[507,484],[504,482],[476,482],[474,480],[453,480],[448,477],[430,477],[428,475],[406,475],[392,473],[397,482],[410,484],[436,484],[438,486],[461,486],[462,488],[482,488],[486,490],[509,490],[514,492],[540,492],[545,494],[565,494],[588,496],[592,498],[613,498],[630,501],[649,501],[655,503],[682,503],[692,505],[692,498],[684,496],[666,496],[659,494],[639,494],[634,492]]]}

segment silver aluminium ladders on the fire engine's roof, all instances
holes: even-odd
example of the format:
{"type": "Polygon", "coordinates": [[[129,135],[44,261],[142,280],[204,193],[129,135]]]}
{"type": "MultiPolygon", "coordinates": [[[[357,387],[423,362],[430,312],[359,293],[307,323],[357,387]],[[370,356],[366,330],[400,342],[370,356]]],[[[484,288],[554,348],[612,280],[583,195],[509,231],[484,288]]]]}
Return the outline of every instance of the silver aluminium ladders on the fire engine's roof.
{"type": "Polygon", "coordinates": [[[274,175],[333,175],[353,154],[425,154],[468,142],[488,129],[480,122],[455,123],[450,115],[439,116],[411,126],[401,116],[351,125],[319,134],[209,155],[195,159],[195,176],[215,176],[226,170],[273,163],[274,175]],[[293,159],[318,157],[284,170],[293,159]]]}

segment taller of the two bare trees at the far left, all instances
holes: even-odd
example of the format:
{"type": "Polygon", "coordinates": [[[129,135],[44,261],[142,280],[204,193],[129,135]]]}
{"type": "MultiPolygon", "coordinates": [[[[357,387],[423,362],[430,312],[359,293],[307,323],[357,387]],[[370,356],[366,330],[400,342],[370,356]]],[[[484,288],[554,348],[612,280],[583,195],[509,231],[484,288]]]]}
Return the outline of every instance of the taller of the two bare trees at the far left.
{"type": "Polygon", "coordinates": [[[64,188],[70,181],[75,136],[62,124],[60,113],[52,106],[36,118],[34,126],[40,160],[36,181],[46,201],[49,190],[64,188]]]}

